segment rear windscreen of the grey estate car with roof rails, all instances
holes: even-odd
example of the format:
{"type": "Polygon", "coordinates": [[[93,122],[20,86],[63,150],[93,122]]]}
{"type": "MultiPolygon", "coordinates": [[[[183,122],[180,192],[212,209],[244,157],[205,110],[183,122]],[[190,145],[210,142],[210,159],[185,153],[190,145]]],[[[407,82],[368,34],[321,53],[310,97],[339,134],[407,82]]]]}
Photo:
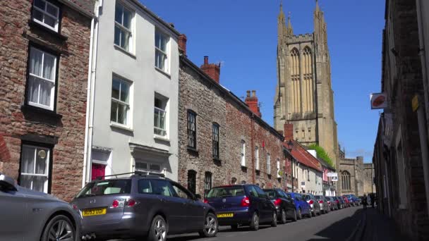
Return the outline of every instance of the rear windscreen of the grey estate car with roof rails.
{"type": "Polygon", "coordinates": [[[99,180],[85,185],[76,195],[76,198],[108,194],[129,194],[130,192],[131,180],[99,180]]]}

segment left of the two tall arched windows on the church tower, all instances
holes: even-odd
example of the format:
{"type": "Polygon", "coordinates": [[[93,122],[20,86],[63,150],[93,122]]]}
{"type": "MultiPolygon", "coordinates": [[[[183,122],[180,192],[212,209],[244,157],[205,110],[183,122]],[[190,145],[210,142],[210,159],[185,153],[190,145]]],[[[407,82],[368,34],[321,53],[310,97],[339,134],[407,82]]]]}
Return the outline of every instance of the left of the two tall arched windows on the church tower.
{"type": "Polygon", "coordinates": [[[298,49],[291,51],[291,106],[292,118],[299,118],[301,113],[301,81],[300,81],[300,58],[298,49]]]}

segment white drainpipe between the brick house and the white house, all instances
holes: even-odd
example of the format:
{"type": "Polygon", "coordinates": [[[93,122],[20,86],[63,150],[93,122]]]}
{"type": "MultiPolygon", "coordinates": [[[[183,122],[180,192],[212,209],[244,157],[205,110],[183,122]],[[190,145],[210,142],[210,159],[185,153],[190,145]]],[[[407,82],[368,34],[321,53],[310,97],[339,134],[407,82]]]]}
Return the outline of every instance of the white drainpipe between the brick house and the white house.
{"type": "Polygon", "coordinates": [[[98,47],[98,19],[99,9],[102,8],[103,1],[99,1],[96,8],[96,16],[91,21],[90,37],[90,64],[88,70],[88,87],[87,87],[87,115],[85,126],[85,149],[83,157],[83,180],[82,185],[91,180],[92,166],[92,132],[94,123],[94,97],[95,97],[95,70],[97,69],[97,47],[98,47]]]}

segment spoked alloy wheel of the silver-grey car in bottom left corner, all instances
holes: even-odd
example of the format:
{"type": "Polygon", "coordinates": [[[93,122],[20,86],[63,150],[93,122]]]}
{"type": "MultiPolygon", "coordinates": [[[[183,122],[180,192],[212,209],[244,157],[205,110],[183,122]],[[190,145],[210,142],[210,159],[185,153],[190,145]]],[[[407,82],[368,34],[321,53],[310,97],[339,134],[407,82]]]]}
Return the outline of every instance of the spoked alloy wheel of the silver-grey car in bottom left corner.
{"type": "Polygon", "coordinates": [[[44,227],[41,241],[75,240],[76,230],[70,219],[64,215],[54,216],[44,227]]]}

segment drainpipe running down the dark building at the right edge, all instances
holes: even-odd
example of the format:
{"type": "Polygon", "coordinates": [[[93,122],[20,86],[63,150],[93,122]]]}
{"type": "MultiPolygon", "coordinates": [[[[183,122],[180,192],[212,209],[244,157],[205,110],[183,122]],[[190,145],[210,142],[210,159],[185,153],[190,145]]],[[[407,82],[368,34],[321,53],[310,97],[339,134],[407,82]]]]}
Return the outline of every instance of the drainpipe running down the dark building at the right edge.
{"type": "MultiPolygon", "coordinates": [[[[422,107],[427,109],[428,106],[425,106],[425,103],[429,103],[428,97],[428,68],[426,68],[426,49],[425,49],[425,32],[423,26],[423,12],[422,12],[422,4],[421,0],[416,0],[416,8],[417,8],[417,23],[418,23],[418,36],[419,36],[419,55],[421,59],[421,67],[423,74],[423,95],[425,98],[424,103],[422,103],[422,107]]],[[[419,99],[420,101],[420,99],[419,99]]],[[[421,102],[421,101],[420,101],[421,102]]],[[[420,103],[419,103],[420,105],[420,103]]],[[[427,130],[427,120],[425,117],[424,110],[419,107],[417,110],[418,117],[418,130],[420,132],[420,143],[422,150],[422,161],[423,161],[423,175],[425,177],[425,191],[426,191],[426,204],[427,211],[429,214],[429,163],[428,163],[428,130],[427,130]]]]}

